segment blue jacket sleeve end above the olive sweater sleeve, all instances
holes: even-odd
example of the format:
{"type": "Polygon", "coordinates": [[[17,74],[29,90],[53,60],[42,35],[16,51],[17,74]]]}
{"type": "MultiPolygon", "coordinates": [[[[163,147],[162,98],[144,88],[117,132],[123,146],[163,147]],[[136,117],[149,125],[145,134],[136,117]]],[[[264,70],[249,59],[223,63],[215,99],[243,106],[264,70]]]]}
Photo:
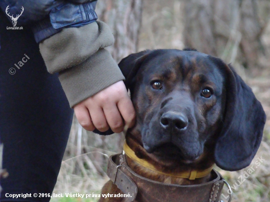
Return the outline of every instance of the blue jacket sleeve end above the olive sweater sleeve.
{"type": "Polygon", "coordinates": [[[31,25],[39,43],[64,27],[95,22],[96,3],[97,0],[1,0],[0,7],[13,26],[31,25]],[[21,16],[14,18],[18,15],[21,16]]]}

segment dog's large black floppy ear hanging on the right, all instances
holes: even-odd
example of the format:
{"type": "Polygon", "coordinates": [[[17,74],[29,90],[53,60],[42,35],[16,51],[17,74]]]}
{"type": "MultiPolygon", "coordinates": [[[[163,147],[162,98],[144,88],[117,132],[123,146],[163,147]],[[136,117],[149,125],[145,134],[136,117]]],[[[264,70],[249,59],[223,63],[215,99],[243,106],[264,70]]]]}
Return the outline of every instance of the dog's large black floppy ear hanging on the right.
{"type": "Polygon", "coordinates": [[[216,142],[216,165],[227,171],[247,167],[262,141],[266,114],[252,90],[230,65],[211,57],[226,77],[223,127],[216,142]]]}

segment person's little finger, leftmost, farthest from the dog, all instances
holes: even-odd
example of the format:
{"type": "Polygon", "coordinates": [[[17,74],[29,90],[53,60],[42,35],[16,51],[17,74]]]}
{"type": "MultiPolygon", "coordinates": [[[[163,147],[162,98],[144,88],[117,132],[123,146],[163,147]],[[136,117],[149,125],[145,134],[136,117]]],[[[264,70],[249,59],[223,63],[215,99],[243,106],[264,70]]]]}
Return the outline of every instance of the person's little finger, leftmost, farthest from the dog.
{"type": "Polygon", "coordinates": [[[85,130],[93,131],[95,129],[89,111],[84,105],[76,105],[74,107],[74,112],[79,123],[85,130]]]}

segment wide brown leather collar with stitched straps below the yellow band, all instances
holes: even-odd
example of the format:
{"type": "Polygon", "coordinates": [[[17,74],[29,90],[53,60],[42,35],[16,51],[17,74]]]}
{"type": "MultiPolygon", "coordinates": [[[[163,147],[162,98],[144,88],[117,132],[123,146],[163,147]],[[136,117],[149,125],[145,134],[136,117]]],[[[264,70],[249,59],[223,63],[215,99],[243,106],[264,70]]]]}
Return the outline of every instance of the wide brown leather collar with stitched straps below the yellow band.
{"type": "MultiPolygon", "coordinates": [[[[125,154],[109,157],[108,177],[126,195],[128,202],[220,202],[223,177],[214,169],[210,182],[195,185],[166,184],[137,175],[127,164],[125,154]]],[[[227,184],[227,183],[226,183],[227,184]]]]}

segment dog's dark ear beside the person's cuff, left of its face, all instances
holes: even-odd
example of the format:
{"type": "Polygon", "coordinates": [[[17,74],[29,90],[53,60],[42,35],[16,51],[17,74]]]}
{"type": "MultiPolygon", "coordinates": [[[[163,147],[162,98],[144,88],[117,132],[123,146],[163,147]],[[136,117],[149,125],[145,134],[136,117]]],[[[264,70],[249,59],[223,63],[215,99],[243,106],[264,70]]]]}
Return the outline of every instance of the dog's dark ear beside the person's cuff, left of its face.
{"type": "Polygon", "coordinates": [[[124,82],[126,88],[130,89],[131,92],[133,91],[135,76],[141,64],[144,62],[145,58],[150,52],[150,50],[146,50],[130,54],[129,56],[123,58],[118,64],[120,70],[126,78],[124,82]]]}

